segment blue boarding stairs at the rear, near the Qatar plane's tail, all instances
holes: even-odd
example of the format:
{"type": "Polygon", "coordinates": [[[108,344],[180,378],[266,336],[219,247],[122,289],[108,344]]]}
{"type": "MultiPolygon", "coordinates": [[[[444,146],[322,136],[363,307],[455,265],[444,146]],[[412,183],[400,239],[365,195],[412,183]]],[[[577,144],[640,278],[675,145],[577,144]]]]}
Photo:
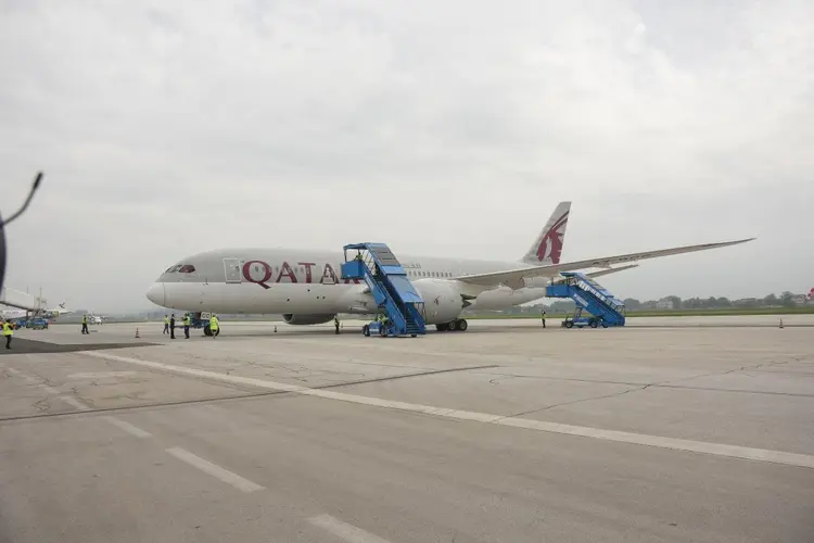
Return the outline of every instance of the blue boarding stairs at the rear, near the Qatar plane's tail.
{"type": "Polygon", "coordinates": [[[576,303],[573,317],[565,317],[565,328],[608,328],[625,325],[625,304],[605,287],[580,272],[561,272],[562,280],[546,287],[546,298],[570,298],[576,303]],[[590,316],[584,317],[583,311],[590,316]]]}

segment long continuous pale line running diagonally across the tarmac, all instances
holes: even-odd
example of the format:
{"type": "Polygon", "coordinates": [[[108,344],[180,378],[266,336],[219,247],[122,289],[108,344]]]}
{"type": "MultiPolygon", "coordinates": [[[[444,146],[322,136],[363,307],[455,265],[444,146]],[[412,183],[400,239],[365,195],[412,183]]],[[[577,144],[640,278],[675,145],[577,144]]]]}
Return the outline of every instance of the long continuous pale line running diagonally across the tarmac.
{"type": "Polygon", "coordinates": [[[721,443],[710,443],[704,441],[692,441],[676,438],[665,438],[660,435],[648,435],[644,433],[622,432],[615,430],[602,430],[599,428],[589,428],[584,426],[572,426],[561,425],[557,422],[546,422],[542,420],[533,420],[527,418],[519,417],[506,417],[503,415],[492,415],[488,413],[476,413],[468,411],[451,409],[447,407],[434,407],[431,405],[411,404],[407,402],[396,402],[391,400],[381,400],[378,397],[359,396],[356,394],[347,394],[344,392],[333,392],[329,390],[309,389],[306,387],[298,387],[295,384],[287,384],[282,382],[266,381],[262,379],[254,379],[251,377],[240,377],[234,375],[216,374],[214,371],[206,371],[203,369],[188,368],[182,366],[174,366],[170,364],[162,364],[157,362],[141,361],[138,358],[130,358],[127,356],[117,356],[113,354],[96,353],[82,351],[77,354],[84,354],[87,356],[94,356],[98,358],[105,358],[115,362],[123,362],[127,364],[136,364],[149,368],[160,369],[162,371],[174,371],[177,374],[191,375],[195,377],[202,377],[205,379],[215,379],[225,382],[232,382],[238,384],[247,384],[251,387],[258,387],[263,389],[281,390],[287,392],[293,392],[296,394],[303,394],[308,396],[323,397],[328,400],[338,400],[341,402],[348,402],[363,405],[371,405],[377,407],[384,407],[390,409],[398,409],[411,413],[423,413],[425,415],[434,415],[437,417],[446,417],[458,420],[474,420],[478,422],[509,426],[514,428],[524,428],[527,430],[537,430],[549,433],[562,433],[568,435],[578,435],[582,438],[592,438],[606,441],[616,441],[620,443],[629,443],[635,445],[656,446],[661,449],[670,449],[674,451],[688,451],[692,453],[704,453],[716,456],[725,456],[730,458],[745,458],[758,462],[770,462],[774,464],[786,464],[789,466],[800,466],[814,469],[814,456],[807,454],[786,453],[783,451],[771,451],[765,449],[752,449],[748,446],[739,445],[726,445],[721,443]]]}

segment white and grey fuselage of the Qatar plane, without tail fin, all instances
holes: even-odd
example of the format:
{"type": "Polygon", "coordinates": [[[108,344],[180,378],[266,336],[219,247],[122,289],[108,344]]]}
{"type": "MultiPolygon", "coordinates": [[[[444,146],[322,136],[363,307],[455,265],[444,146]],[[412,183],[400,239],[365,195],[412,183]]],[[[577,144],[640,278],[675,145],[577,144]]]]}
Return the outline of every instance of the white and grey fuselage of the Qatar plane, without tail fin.
{"type": "MultiPolygon", "coordinates": [[[[349,257],[353,255],[349,255],[349,257]]],[[[180,261],[150,288],[148,298],[164,307],[229,314],[327,315],[376,313],[364,283],[341,279],[342,253],[271,249],[219,250],[180,261]]],[[[408,278],[448,281],[474,295],[479,308],[505,308],[545,296],[547,278],[535,278],[526,288],[471,287],[455,277],[526,267],[516,262],[465,261],[437,257],[399,257],[408,278]],[[474,289],[474,290],[473,290],[474,289]]],[[[425,300],[425,302],[429,302],[425,300]]],[[[448,320],[433,318],[428,324],[448,320]]]]}

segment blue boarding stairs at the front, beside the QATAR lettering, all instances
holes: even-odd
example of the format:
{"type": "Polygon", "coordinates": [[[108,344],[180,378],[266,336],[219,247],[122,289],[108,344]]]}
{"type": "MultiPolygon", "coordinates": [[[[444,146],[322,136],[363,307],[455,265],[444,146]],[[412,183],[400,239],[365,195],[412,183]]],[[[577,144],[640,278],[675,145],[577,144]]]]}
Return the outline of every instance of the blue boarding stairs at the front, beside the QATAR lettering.
{"type": "Polygon", "coordinates": [[[382,337],[415,338],[427,333],[424,301],[387,245],[352,243],[344,247],[344,252],[342,279],[364,280],[377,307],[386,315],[383,323],[377,320],[366,325],[366,336],[370,331],[378,331],[382,337]]]}

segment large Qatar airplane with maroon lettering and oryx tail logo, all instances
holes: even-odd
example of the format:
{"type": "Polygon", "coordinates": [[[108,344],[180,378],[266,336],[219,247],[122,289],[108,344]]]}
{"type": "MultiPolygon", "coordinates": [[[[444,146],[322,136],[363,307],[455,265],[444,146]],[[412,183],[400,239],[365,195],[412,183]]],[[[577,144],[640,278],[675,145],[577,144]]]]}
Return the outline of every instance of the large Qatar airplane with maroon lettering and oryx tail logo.
{"type": "MultiPolygon", "coordinates": [[[[398,260],[424,300],[427,325],[438,331],[463,331],[466,307],[499,310],[546,295],[560,272],[602,268],[600,277],[636,267],[634,262],[705,251],[755,238],[686,245],[657,251],[561,262],[571,202],[560,202],[519,262],[489,262],[429,256],[398,260]],[[616,264],[624,266],[613,267],[616,264]]],[[[218,249],[181,258],[148,289],[148,300],[162,307],[221,314],[282,314],[289,325],[318,325],[339,313],[379,312],[369,288],[343,280],[341,251],[301,249],[218,249]]]]}

